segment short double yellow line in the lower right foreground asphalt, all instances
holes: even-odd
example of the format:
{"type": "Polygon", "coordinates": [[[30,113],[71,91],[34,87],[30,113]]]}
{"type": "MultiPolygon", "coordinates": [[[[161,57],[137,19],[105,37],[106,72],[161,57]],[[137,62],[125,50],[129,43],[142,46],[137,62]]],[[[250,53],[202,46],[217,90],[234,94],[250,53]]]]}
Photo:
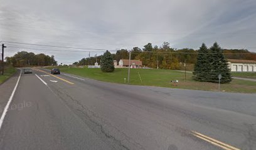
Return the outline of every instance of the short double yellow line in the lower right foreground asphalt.
{"type": "Polygon", "coordinates": [[[203,139],[204,141],[207,141],[208,143],[211,143],[215,146],[218,146],[222,149],[226,149],[226,150],[240,150],[238,148],[235,148],[233,146],[230,146],[228,144],[222,143],[221,141],[218,141],[216,139],[210,138],[208,136],[205,136],[203,134],[197,133],[196,131],[191,131],[191,134],[193,134],[193,136],[196,136],[197,138],[203,139]]]}

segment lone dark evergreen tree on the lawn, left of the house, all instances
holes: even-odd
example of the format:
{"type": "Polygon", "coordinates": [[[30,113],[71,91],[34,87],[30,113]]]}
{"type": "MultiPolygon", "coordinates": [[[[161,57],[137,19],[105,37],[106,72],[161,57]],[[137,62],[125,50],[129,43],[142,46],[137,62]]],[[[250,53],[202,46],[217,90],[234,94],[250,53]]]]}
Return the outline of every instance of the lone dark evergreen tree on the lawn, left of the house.
{"type": "Polygon", "coordinates": [[[104,73],[112,73],[115,70],[112,54],[106,51],[100,59],[100,69],[104,73]]]}

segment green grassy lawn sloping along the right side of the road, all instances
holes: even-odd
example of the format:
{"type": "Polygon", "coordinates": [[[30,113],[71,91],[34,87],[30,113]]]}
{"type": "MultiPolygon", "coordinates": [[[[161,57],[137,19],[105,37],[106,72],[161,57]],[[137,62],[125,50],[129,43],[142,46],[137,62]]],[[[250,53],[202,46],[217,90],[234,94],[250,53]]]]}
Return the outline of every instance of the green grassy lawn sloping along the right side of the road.
{"type": "MultiPolygon", "coordinates": [[[[59,68],[60,71],[63,73],[75,74],[78,76],[97,79],[100,81],[127,84],[124,83],[124,78],[126,78],[127,82],[128,69],[115,69],[114,73],[102,73],[99,68],[59,68]]],[[[191,76],[191,73],[187,73],[187,80],[186,82],[184,82],[184,73],[180,71],[165,69],[131,69],[130,84],[141,86],[161,86],[168,88],[218,91],[218,84],[194,81],[193,79],[191,79],[191,76]],[[141,79],[139,76],[141,76],[141,79]],[[178,86],[174,86],[174,84],[171,83],[172,80],[179,80],[178,86]]],[[[221,84],[221,91],[235,93],[256,93],[256,82],[234,79],[232,83],[221,84]]]]}

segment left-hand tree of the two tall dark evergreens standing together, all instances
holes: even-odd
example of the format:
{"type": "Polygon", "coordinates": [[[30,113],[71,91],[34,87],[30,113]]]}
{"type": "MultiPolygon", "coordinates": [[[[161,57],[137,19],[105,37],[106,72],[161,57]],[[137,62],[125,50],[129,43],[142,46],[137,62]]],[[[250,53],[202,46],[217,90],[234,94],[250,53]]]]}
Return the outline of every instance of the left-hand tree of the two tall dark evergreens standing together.
{"type": "Polygon", "coordinates": [[[210,75],[209,50],[205,43],[198,50],[197,61],[193,71],[193,79],[196,81],[208,81],[210,75]]]}

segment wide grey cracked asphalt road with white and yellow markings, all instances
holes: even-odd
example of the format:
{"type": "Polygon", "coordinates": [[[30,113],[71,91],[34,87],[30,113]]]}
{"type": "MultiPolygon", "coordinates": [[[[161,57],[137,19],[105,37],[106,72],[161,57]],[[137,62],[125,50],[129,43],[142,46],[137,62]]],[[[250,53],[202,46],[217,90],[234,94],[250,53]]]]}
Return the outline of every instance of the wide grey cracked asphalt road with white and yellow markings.
{"type": "MultiPolygon", "coordinates": [[[[49,73],[21,74],[0,149],[256,149],[256,94],[49,73]]],[[[18,76],[0,86],[1,113],[18,76]]]]}

